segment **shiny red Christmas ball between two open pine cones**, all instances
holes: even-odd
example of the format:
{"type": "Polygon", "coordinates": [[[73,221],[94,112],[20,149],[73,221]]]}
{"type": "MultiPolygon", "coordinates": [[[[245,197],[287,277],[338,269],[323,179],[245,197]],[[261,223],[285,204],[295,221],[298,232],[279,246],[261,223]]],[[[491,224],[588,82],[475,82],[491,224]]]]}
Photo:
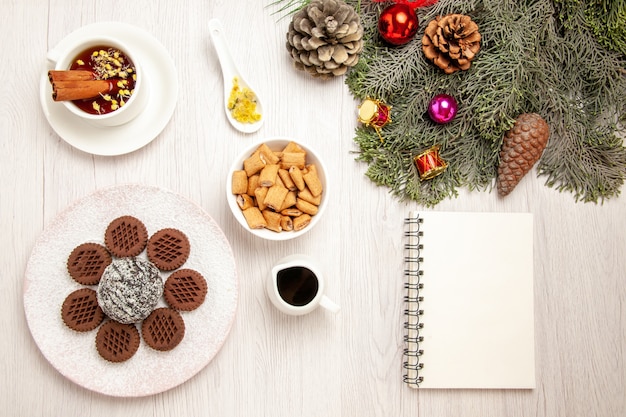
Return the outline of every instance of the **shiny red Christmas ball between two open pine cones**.
{"type": "Polygon", "coordinates": [[[404,3],[387,6],[378,18],[378,33],[392,45],[404,45],[417,33],[415,9],[404,3]]]}

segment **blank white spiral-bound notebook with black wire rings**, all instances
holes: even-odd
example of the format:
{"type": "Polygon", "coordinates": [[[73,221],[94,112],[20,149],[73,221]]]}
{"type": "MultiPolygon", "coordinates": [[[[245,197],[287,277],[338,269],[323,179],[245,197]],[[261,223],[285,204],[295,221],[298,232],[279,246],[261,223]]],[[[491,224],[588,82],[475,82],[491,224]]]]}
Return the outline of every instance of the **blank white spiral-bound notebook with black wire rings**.
{"type": "Polygon", "coordinates": [[[412,211],[405,223],[404,381],[534,388],[532,214],[412,211]]]}

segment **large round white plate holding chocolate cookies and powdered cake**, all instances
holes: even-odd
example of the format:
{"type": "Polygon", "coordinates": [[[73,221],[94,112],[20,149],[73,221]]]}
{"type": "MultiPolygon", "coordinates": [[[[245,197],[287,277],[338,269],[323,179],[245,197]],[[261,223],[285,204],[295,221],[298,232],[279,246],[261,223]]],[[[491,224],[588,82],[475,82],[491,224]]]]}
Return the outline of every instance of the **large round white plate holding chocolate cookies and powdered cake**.
{"type": "MultiPolygon", "coordinates": [[[[162,273],[162,277],[165,280],[167,274],[162,273]]],[[[203,369],[226,340],[237,299],[233,253],[215,221],[173,192],[141,185],[96,191],[59,214],[37,240],[24,281],[26,320],[46,359],[78,385],[117,397],[163,392],[203,369]],[[173,350],[158,352],[142,339],[132,358],[114,364],[96,350],[97,329],[85,333],[69,329],[61,319],[61,305],[70,292],[84,287],[67,273],[72,249],[84,242],[102,243],[109,222],[125,214],[140,219],[149,235],[166,227],[183,231],[191,245],[183,268],[204,276],[208,294],[196,310],[181,312],[185,336],[173,350]]],[[[159,306],[165,306],[165,301],[159,306]]],[[[137,328],[141,329],[140,324],[137,328]]]]}

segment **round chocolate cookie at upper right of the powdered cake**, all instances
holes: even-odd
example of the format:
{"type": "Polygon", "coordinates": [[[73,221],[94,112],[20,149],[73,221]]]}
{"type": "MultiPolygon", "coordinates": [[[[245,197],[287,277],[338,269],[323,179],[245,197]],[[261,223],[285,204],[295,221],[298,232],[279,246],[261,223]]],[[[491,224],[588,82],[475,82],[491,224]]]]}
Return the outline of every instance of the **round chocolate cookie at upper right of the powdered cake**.
{"type": "Polygon", "coordinates": [[[173,271],[189,257],[189,239],[178,229],[162,229],[148,241],[148,259],[163,271],[173,271]]]}

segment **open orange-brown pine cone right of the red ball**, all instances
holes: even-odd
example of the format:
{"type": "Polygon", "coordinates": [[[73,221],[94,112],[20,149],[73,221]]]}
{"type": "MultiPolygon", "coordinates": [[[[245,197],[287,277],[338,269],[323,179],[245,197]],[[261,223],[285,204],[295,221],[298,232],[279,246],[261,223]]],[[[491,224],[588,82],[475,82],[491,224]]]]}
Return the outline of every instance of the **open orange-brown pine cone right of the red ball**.
{"type": "Polygon", "coordinates": [[[478,25],[462,14],[437,16],[424,31],[422,50],[446,74],[467,70],[480,50],[478,25]]]}

